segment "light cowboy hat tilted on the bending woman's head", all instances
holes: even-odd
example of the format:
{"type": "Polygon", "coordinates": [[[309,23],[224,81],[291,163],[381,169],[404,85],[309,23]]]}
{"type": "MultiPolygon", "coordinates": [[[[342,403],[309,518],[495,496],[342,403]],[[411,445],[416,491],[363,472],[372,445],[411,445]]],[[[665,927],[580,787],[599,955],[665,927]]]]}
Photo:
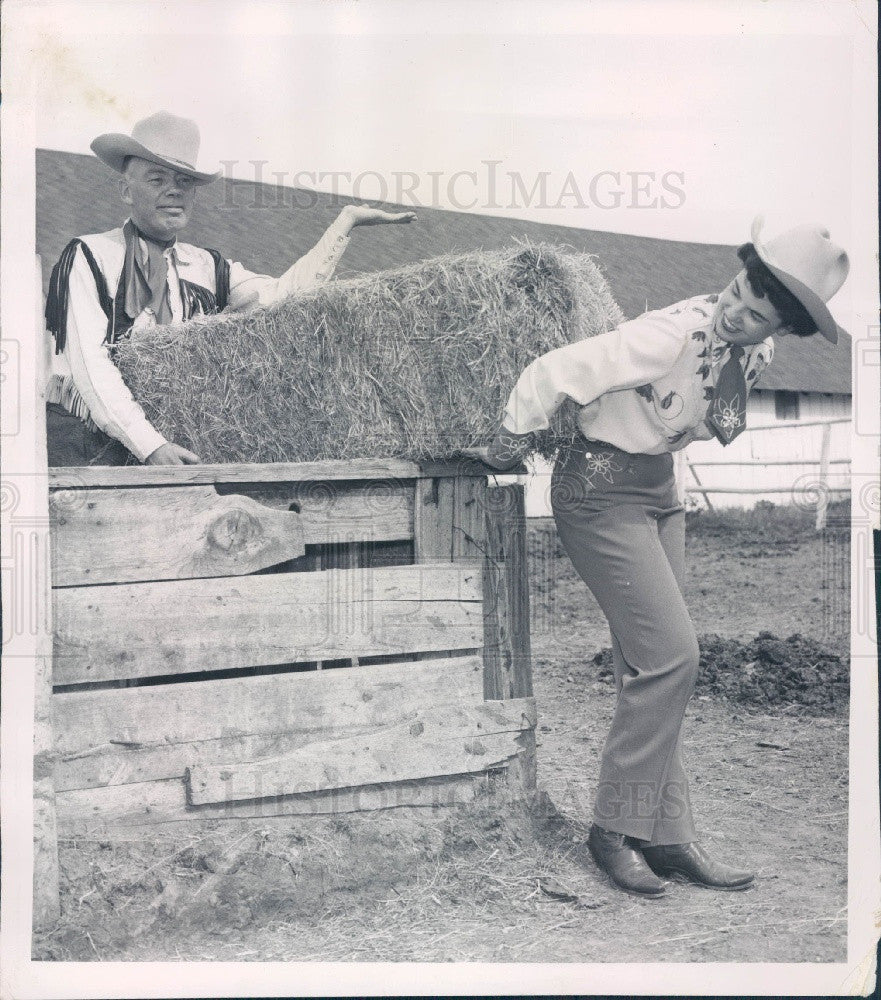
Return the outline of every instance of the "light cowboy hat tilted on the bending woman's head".
{"type": "MultiPolygon", "coordinates": [[[[841,327],[826,303],[844,284],[850,261],[847,252],[829,239],[823,226],[796,226],[767,243],[759,242],[764,219],[753,219],[752,241],[759,259],[807,309],[817,329],[833,344],[841,327]]],[[[842,331],[843,332],[843,331],[842,331]]]]}

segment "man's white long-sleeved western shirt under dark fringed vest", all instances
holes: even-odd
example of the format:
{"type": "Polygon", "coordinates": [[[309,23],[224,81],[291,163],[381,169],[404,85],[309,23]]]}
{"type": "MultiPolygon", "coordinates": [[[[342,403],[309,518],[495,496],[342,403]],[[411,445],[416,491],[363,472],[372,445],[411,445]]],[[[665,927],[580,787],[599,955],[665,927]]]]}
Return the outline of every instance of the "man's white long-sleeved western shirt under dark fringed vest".
{"type": "MultiPolygon", "coordinates": [[[[111,295],[119,284],[125,260],[122,228],[82,236],[92,252],[111,295]]],[[[333,223],[318,243],[280,278],[248,271],[230,261],[229,302],[231,312],[267,306],[292,292],[305,291],[328,280],[342,257],[349,237],[343,225],[333,223]]],[[[142,263],[147,246],[139,239],[142,263]]],[[[175,242],[167,250],[168,297],[172,322],[183,318],[181,279],[215,290],[214,258],[201,247],[175,242]]],[[[142,314],[143,316],[143,314],[142,314]]],[[[139,326],[139,319],[135,320],[139,326]]],[[[82,419],[121,441],[141,462],[166,443],[165,437],[147,420],[132,397],[105,343],[107,316],[98,300],[95,279],[82,250],[77,251],[69,277],[67,337],[64,350],[52,355],[46,400],[61,403],[82,419]]]]}

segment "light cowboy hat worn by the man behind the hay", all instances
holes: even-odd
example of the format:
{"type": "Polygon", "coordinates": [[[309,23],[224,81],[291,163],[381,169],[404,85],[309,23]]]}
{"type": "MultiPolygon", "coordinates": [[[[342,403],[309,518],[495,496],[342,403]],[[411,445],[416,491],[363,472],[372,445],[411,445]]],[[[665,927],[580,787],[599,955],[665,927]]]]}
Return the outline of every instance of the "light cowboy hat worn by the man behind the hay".
{"type": "Polygon", "coordinates": [[[110,132],[99,135],[92,143],[92,152],[109,167],[122,173],[126,157],[139,156],[151,163],[178,170],[192,177],[197,184],[210,184],[220,176],[197,170],[199,155],[199,128],[189,118],[178,118],[167,111],[159,111],[139,121],[132,134],[110,132]]]}

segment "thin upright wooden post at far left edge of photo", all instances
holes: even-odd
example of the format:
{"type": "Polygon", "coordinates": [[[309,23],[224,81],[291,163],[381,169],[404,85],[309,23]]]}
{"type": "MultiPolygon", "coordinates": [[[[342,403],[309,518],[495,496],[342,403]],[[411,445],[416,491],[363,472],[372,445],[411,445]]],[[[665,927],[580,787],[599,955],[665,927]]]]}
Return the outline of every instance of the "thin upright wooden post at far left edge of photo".
{"type": "MultiPolygon", "coordinates": [[[[37,257],[37,323],[34,329],[37,341],[36,354],[36,406],[35,406],[35,451],[37,468],[48,470],[46,448],[46,402],[45,388],[45,345],[46,335],[43,323],[43,275],[40,258],[37,257]]],[[[48,473],[44,473],[48,475],[48,473]]],[[[41,477],[37,477],[38,482],[41,477]]],[[[34,661],[34,875],[33,875],[33,927],[44,930],[51,927],[60,915],[58,889],[58,826],[55,817],[55,741],[52,727],[52,575],[49,564],[49,495],[47,481],[37,488],[38,509],[32,522],[33,536],[38,541],[45,533],[45,542],[28,546],[28,553],[20,553],[30,564],[18,567],[18,571],[29,574],[35,588],[38,608],[36,621],[37,656],[34,661]]]]}

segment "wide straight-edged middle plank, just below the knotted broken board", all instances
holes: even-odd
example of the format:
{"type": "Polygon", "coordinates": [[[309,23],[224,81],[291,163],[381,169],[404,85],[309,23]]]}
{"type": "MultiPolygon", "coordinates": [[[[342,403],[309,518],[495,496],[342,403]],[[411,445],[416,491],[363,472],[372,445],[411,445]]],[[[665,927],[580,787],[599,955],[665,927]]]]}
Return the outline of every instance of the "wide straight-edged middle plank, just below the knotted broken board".
{"type": "Polygon", "coordinates": [[[483,643],[469,563],[56,589],[54,683],[483,643]]]}

